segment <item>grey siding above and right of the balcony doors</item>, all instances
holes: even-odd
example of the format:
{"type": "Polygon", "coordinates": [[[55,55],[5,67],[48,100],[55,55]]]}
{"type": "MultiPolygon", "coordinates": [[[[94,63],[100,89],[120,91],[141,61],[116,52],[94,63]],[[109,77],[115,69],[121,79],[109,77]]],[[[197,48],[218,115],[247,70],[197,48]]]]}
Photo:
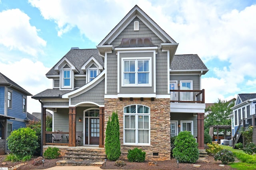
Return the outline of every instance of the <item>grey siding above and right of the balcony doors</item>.
{"type": "Polygon", "coordinates": [[[170,81],[193,81],[193,89],[191,90],[201,90],[200,89],[200,77],[199,75],[170,75],[170,81]]]}

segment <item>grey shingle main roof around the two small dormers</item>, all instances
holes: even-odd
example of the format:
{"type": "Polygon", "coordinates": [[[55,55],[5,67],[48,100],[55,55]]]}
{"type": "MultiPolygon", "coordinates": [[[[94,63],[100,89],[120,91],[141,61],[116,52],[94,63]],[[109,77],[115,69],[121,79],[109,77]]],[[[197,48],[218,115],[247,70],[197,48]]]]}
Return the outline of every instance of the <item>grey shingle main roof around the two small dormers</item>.
{"type": "MultiPolygon", "coordinates": [[[[97,49],[71,49],[64,57],[66,57],[78,69],[78,74],[84,74],[81,66],[92,56],[104,67],[104,61],[99,55],[97,49]]],[[[59,75],[59,73],[54,70],[53,66],[46,75],[59,75]]]]}

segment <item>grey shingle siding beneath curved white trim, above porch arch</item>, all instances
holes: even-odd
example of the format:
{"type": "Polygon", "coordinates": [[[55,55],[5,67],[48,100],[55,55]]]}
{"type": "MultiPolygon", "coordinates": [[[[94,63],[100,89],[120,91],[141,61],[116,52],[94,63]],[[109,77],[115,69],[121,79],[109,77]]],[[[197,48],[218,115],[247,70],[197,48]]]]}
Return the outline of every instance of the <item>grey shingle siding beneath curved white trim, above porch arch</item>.
{"type": "Polygon", "coordinates": [[[75,105],[80,102],[94,102],[99,105],[104,105],[104,88],[105,86],[105,80],[102,80],[100,83],[98,83],[96,86],[94,86],[92,89],[88,90],[87,92],[84,92],[80,94],[79,96],[76,96],[74,98],[71,98],[71,104],[75,105]]]}

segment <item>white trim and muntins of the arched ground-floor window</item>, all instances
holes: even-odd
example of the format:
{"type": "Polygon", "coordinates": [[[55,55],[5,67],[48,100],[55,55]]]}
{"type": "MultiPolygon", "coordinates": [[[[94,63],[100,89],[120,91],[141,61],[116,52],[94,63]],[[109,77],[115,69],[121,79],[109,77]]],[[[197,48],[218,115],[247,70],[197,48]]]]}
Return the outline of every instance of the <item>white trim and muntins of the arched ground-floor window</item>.
{"type": "MultiPolygon", "coordinates": [[[[142,104],[131,104],[131,105],[127,105],[127,106],[132,106],[132,105],[136,105],[136,112],[137,112],[137,108],[138,105],[140,106],[145,106],[142,104]]],[[[127,106],[124,106],[127,107],[127,106]]],[[[146,106],[148,107],[148,106],[146,106]]],[[[124,145],[129,145],[129,146],[150,146],[150,107],[148,107],[149,109],[149,113],[124,113],[124,108],[123,108],[123,121],[124,121],[124,126],[123,126],[123,134],[124,134],[124,145]],[[135,143],[125,143],[125,115],[135,115],[135,143]],[[149,130],[148,130],[148,143],[138,143],[138,115],[148,115],[148,126],[149,126],[149,130]]]]}

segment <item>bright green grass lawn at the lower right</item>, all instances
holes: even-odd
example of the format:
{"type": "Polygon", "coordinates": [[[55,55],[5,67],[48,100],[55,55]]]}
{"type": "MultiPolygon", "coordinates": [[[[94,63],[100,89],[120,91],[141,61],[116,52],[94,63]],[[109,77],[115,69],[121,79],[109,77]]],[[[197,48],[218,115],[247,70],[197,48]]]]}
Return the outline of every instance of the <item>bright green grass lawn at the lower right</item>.
{"type": "MultiPolygon", "coordinates": [[[[233,147],[230,147],[227,145],[219,145],[219,146],[222,147],[222,149],[228,149],[233,153],[236,152],[236,153],[239,153],[240,155],[244,155],[244,159],[250,159],[251,162],[254,162],[254,160],[256,160],[256,156],[246,154],[242,149],[233,149],[233,147]]],[[[237,168],[237,170],[256,170],[256,162],[254,163],[235,162],[235,163],[230,163],[229,165],[232,168],[237,168]]]]}

